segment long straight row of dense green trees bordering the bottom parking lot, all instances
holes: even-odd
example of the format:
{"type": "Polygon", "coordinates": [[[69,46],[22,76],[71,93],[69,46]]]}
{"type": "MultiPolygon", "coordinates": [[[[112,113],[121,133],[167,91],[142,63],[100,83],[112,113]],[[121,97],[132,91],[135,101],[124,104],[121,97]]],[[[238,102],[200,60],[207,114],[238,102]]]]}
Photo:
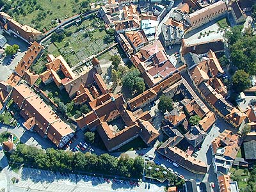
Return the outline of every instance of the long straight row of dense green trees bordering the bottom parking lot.
{"type": "Polygon", "coordinates": [[[29,164],[34,168],[58,172],[73,170],[132,178],[141,178],[144,166],[144,160],[140,156],[132,159],[127,154],[122,154],[116,158],[109,154],[97,156],[89,152],[73,153],[53,148],[42,150],[25,144],[17,146],[17,150],[10,156],[10,163],[29,164]]]}

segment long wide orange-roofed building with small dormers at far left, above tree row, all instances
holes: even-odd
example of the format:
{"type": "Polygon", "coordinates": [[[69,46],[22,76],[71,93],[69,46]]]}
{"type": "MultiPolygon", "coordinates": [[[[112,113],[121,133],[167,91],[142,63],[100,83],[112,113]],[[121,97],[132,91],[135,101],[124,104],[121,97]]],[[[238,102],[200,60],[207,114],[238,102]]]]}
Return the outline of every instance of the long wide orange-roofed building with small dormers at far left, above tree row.
{"type": "Polygon", "coordinates": [[[27,129],[35,124],[35,131],[41,136],[46,135],[57,147],[64,136],[74,132],[26,84],[13,88],[12,99],[21,109],[20,115],[27,121],[27,129]],[[35,117],[35,120],[31,117],[35,117]]]}

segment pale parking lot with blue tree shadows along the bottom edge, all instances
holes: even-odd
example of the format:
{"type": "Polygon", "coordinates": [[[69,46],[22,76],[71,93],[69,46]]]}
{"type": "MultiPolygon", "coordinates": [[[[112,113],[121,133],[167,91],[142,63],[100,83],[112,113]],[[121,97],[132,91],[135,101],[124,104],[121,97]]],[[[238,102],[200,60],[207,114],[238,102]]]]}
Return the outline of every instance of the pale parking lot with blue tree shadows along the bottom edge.
{"type": "Polygon", "coordinates": [[[117,179],[109,179],[108,183],[103,177],[24,168],[19,182],[10,186],[10,191],[164,191],[163,186],[150,184],[150,189],[145,189],[145,185],[142,182],[140,186],[134,186],[129,180],[117,179]]]}

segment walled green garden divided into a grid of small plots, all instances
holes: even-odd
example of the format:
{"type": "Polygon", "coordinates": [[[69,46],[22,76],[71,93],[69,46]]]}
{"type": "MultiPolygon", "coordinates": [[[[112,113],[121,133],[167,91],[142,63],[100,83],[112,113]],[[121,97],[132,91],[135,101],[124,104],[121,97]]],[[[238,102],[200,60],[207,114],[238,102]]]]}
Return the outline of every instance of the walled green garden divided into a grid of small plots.
{"type": "Polygon", "coordinates": [[[95,17],[89,17],[83,20],[79,26],[70,26],[65,31],[71,32],[72,35],[65,36],[61,42],[45,42],[48,44],[47,51],[55,56],[61,54],[70,67],[103,51],[109,47],[109,44],[103,40],[106,31],[95,26],[97,22],[95,17]],[[91,33],[91,35],[85,36],[86,33],[91,33]]]}

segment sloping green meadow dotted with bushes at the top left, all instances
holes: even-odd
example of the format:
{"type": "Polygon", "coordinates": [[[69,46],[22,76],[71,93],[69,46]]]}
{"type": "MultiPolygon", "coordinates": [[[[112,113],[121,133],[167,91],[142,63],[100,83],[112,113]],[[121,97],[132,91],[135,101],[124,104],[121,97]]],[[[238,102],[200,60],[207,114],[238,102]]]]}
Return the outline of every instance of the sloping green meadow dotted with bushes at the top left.
{"type": "Polygon", "coordinates": [[[28,24],[39,31],[49,31],[57,25],[56,19],[61,21],[85,12],[86,8],[81,8],[83,0],[12,0],[12,9],[9,14],[20,24],[28,24]]]}

